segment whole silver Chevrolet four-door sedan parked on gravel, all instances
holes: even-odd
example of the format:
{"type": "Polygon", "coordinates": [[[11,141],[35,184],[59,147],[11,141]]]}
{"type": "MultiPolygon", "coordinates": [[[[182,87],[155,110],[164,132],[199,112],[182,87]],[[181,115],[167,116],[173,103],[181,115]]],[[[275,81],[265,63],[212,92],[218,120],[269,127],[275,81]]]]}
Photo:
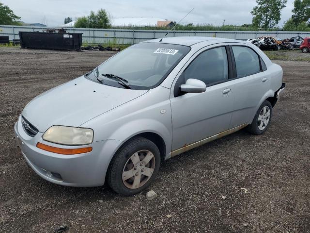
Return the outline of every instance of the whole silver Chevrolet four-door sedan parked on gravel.
{"type": "Polygon", "coordinates": [[[107,181],[134,195],[155,180],[162,160],[245,127],[264,133],[285,87],[282,75],[245,41],[153,39],[31,100],[16,139],[49,182],[107,181]]]}

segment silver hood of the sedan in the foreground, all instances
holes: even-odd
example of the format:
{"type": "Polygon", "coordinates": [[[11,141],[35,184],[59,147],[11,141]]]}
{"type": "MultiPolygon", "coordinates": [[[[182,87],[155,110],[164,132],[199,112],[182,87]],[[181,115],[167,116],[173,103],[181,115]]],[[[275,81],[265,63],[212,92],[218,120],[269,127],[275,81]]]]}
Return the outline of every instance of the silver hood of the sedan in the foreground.
{"type": "Polygon", "coordinates": [[[41,133],[52,125],[78,127],[146,92],[103,85],[82,76],[37,96],[22,115],[41,133]]]}

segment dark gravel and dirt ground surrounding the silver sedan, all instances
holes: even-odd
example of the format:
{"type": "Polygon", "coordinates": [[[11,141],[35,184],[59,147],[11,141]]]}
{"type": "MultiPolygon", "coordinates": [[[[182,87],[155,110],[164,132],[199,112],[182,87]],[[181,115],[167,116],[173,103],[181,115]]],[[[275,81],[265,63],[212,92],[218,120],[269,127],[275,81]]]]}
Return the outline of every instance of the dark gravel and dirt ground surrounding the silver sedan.
{"type": "Polygon", "coordinates": [[[307,62],[275,61],[287,88],[268,131],[242,130],[164,161],[154,200],[37,176],[14,138],[23,107],[112,54],[0,48],[0,232],[52,233],[64,224],[68,233],[310,232],[307,62]]]}

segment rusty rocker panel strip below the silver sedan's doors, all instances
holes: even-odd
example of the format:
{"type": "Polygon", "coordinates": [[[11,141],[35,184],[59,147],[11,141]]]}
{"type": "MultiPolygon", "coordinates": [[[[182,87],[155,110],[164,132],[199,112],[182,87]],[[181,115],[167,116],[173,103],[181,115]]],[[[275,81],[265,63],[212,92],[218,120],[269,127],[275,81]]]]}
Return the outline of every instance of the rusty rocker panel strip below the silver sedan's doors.
{"type": "Polygon", "coordinates": [[[213,135],[213,136],[211,136],[211,137],[207,137],[207,138],[202,139],[202,140],[200,140],[200,141],[198,141],[198,142],[194,142],[194,143],[192,143],[192,144],[190,144],[190,145],[186,145],[186,144],[185,144],[184,147],[181,147],[181,148],[179,148],[179,149],[177,149],[177,150],[171,151],[171,156],[170,156],[170,157],[172,158],[172,157],[174,157],[174,156],[176,156],[176,155],[178,155],[178,154],[181,154],[181,153],[183,153],[183,152],[186,152],[187,150],[191,150],[191,149],[193,149],[193,148],[195,148],[195,147],[199,147],[199,146],[201,146],[201,145],[203,145],[203,144],[205,144],[205,143],[207,143],[207,142],[211,142],[211,141],[213,141],[213,140],[216,140],[217,138],[221,138],[221,137],[226,136],[226,135],[228,135],[228,134],[237,132],[237,131],[239,131],[239,130],[245,128],[247,125],[248,125],[248,124],[242,124],[242,125],[239,125],[239,126],[237,126],[237,127],[232,128],[232,129],[226,130],[226,131],[224,131],[224,132],[222,132],[222,133],[217,133],[217,134],[215,134],[215,135],[213,135]]]}

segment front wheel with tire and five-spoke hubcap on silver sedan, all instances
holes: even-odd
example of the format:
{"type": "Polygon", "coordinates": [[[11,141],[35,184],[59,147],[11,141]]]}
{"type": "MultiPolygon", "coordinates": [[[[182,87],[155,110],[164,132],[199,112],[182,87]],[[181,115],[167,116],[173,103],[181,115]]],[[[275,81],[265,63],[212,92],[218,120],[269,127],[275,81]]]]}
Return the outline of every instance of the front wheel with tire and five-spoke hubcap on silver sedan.
{"type": "Polygon", "coordinates": [[[136,137],[124,144],[110,162],[107,172],[109,186],[123,196],[138,194],[153,183],[160,162],[155,143],[136,137]]]}

